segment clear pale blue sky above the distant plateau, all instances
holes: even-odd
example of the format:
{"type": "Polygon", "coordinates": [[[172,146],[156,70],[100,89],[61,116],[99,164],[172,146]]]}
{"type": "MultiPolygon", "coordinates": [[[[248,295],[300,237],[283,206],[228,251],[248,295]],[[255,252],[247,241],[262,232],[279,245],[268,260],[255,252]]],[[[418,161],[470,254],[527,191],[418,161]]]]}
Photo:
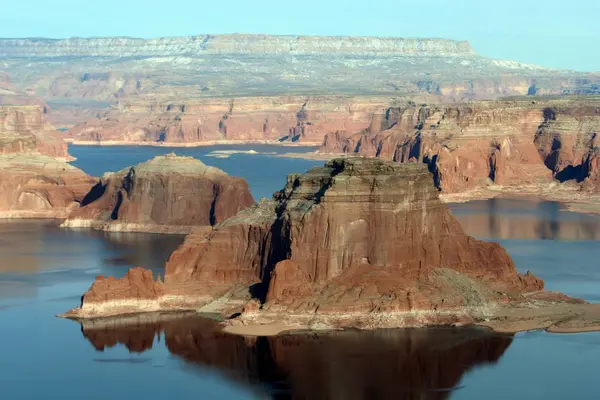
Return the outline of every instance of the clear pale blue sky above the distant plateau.
{"type": "Polygon", "coordinates": [[[440,37],[481,55],[600,71],[600,0],[20,0],[0,37],[219,33],[440,37]]]}

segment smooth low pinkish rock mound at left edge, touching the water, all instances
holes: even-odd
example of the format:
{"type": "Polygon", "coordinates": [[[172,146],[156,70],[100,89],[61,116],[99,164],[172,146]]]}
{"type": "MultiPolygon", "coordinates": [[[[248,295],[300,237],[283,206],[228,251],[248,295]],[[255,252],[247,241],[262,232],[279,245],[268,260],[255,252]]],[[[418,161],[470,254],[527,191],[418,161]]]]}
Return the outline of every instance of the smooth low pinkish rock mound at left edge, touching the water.
{"type": "Polygon", "coordinates": [[[40,154],[0,154],[0,218],[66,218],[95,179],[40,154]]]}

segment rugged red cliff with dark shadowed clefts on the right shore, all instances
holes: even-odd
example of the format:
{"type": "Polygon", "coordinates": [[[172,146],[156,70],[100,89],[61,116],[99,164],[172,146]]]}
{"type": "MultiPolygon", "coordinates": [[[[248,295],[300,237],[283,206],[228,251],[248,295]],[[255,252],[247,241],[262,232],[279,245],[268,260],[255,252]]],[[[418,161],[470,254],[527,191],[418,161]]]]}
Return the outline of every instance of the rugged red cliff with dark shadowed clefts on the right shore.
{"type": "Polygon", "coordinates": [[[324,153],[424,162],[444,193],[587,180],[594,187],[598,98],[389,108],[376,127],[328,134],[324,153]],[[589,179],[588,179],[589,178],[589,179]]]}

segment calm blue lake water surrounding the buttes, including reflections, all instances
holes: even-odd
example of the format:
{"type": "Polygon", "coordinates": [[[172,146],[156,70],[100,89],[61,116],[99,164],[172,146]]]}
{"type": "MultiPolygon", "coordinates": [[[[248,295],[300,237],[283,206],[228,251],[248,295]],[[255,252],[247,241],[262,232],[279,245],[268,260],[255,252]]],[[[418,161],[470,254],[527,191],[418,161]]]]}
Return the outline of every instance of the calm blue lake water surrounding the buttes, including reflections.
{"type": "MultiPolygon", "coordinates": [[[[246,178],[255,197],[321,162],[175,149],[246,178]]],[[[225,149],[232,149],[231,146],[225,149]]],[[[308,151],[245,146],[260,153],[308,151]]],[[[72,147],[94,175],[170,152],[72,147]]],[[[551,289],[600,301],[600,218],[556,203],[495,200],[452,206],[465,229],[497,240],[521,271],[551,289]]],[[[298,334],[248,339],[194,315],[128,325],[55,318],[97,274],[161,271],[181,236],[59,229],[53,221],[0,222],[2,399],[597,399],[600,335],[477,329],[298,334]]]]}

